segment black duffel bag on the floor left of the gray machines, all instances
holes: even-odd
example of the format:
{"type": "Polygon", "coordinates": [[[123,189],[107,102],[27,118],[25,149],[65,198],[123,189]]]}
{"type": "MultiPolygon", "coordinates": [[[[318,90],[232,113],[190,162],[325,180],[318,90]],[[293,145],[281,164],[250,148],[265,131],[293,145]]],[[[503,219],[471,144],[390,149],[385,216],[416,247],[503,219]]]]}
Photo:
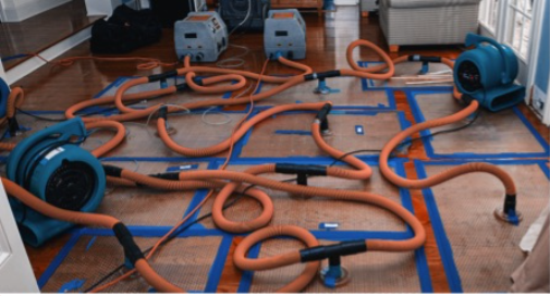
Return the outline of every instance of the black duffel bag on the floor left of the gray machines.
{"type": "Polygon", "coordinates": [[[90,50],[94,53],[126,53],[160,40],[162,25],[150,10],[136,11],[118,7],[108,21],[91,27],[90,50]]]}

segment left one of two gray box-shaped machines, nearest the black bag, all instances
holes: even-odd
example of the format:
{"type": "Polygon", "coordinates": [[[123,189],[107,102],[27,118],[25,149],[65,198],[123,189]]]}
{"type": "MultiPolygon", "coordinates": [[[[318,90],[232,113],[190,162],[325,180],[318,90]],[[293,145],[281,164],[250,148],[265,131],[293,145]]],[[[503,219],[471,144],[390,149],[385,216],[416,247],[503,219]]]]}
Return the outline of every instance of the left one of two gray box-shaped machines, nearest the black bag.
{"type": "Polygon", "coordinates": [[[228,28],[213,11],[192,12],[174,24],[178,59],[190,55],[193,62],[215,62],[228,48],[228,28]]]}

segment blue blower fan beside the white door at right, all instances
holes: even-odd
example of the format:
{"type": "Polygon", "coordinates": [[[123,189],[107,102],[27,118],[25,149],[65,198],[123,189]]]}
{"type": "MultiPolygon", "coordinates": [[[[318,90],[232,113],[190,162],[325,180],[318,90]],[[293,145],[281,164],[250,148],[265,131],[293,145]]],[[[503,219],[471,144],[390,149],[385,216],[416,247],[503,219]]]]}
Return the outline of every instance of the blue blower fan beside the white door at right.
{"type": "Polygon", "coordinates": [[[466,36],[466,46],[476,48],[454,63],[454,81],[462,94],[493,112],[523,101],[525,87],[514,84],[518,63],[510,47],[472,33],[466,36]]]}

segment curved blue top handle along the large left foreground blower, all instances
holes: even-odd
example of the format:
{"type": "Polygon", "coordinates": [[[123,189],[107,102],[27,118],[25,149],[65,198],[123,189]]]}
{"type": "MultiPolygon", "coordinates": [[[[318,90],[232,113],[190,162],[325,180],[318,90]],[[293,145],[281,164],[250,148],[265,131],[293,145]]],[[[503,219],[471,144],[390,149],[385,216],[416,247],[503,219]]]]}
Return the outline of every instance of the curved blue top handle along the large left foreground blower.
{"type": "Polygon", "coordinates": [[[75,136],[84,138],[86,137],[86,127],[84,126],[84,122],[81,120],[81,118],[74,118],[48,128],[44,128],[42,131],[33,134],[33,136],[22,140],[16,146],[16,148],[10,152],[8,160],[8,177],[15,176],[17,162],[29,149],[35,147],[36,144],[42,141],[44,139],[56,135],[59,135],[59,137],[56,137],[56,139],[60,141],[69,141],[72,137],[75,136]]]}

